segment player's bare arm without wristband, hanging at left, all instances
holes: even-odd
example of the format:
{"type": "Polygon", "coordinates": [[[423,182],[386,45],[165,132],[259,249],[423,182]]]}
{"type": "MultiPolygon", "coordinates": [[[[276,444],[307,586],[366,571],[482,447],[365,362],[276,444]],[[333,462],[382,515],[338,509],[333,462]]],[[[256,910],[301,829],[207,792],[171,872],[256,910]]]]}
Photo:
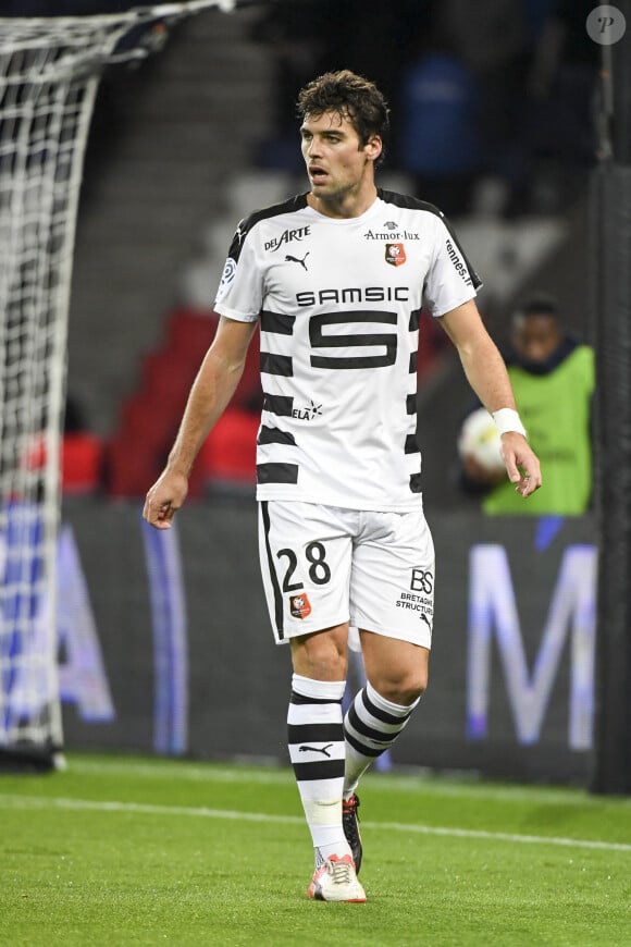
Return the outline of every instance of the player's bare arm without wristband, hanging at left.
{"type": "Polygon", "coordinates": [[[193,463],[235,392],[256,327],[256,322],[221,319],[190,389],[166,466],[147,493],[143,516],[151,526],[169,529],[184,503],[193,463]]]}

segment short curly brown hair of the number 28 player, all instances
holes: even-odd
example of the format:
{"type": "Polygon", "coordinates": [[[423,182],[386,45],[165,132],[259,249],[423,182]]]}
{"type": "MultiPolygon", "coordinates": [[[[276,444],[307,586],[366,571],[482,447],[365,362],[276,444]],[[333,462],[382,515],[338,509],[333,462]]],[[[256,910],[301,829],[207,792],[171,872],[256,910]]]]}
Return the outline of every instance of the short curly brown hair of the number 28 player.
{"type": "MultiPolygon", "coordinates": [[[[298,115],[319,118],[324,112],[337,112],[348,119],[361,145],[379,135],[384,146],[389,132],[389,109],[374,83],[348,69],[326,72],[312,79],[298,94],[298,115]]],[[[375,163],[383,160],[384,151],[375,163]]]]}

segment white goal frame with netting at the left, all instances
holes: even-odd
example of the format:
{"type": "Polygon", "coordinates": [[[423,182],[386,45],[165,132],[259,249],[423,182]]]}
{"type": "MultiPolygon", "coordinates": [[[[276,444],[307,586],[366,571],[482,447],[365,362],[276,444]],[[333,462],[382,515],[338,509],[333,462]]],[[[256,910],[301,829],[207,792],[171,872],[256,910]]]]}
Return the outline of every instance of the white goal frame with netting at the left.
{"type": "Polygon", "coordinates": [[[109,63],[151,51],[134,27],[237,5],[0,19],[0,770],[62,759],[59,458],[75,225],[99,78],[109,63]]]}

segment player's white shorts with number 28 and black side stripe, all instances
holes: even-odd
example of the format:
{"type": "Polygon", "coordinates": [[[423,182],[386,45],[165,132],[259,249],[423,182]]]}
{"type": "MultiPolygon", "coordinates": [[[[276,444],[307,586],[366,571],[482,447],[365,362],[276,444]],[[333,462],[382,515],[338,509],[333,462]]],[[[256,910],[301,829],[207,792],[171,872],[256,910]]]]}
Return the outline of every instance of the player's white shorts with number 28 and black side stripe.
{"type": "Polygon", "coordinates": [[[263,500],[259,553],[276,642],[348,622],[431,647],[434,544],[422,508],[263,500]]]}

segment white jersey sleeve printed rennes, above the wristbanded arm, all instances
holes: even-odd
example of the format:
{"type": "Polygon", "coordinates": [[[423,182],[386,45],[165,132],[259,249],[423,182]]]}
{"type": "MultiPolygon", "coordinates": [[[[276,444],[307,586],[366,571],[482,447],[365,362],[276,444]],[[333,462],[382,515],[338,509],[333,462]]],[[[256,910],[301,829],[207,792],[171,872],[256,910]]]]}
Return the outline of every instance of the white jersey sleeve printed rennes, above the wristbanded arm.
{"type": "Polygon", "coordinates": [[[444,316],[473,299],[482,285],[456,235],[437,213],[434,216],[434,253],[425,276],[424,299],[432,316],[444,316]]]}

